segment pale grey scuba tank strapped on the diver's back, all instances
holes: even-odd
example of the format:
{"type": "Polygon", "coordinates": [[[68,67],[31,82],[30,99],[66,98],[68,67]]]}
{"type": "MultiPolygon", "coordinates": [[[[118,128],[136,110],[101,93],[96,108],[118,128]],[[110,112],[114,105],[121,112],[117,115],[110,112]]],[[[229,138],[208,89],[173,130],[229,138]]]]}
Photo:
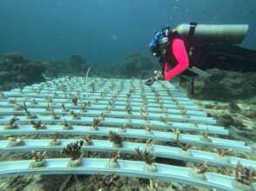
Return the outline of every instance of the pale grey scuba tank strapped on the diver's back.
{"type": "Polygon", "coordinates": [[[248,33],[248,24],[197,24],[182,23],[174,31],[180,36],[189,36],[208,43],[242,43],[248,33]]]}

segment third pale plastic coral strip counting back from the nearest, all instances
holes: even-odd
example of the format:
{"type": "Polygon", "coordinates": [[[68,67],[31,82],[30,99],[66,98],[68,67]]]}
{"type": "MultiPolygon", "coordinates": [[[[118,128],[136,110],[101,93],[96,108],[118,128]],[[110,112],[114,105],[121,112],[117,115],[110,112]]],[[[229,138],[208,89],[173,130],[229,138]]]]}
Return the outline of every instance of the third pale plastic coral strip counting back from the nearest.
{"type": "MultiPolygon", "coordinates": [[[[72,126],[72,129],[64,129],[64,126],[61,125],[47,125],[46,129],[35,129],[31,125],[19,125],[17,129],[4,129],[3,126],[0,126],[0,135],[98,135],[106,136],[110,131],[118,133],[122,137],[126,138],[137,138],[137,139],[152,139],[158,140],[161,142],[176,142],[177,135],[172,132],[162,132],[155,131],[147,132],[144,129],[135,129],[135,128],[125,128],[125,130],[120,128],[105,128],[99,127],[98,130],[95,130],[88,126],[72,126]]],[[[211,148],[232,148],[233,150],[240,150],[243,152],[251,152],[252,148],[246,146],[245,142],[238,142],[226,139],[215,138],[209,136],[209,141],[204,139],[203,135],[187,135],[180,134],[179,142],[190,143],[192,145],[197,145],[201,147],[211,147],[211,148]]]]}

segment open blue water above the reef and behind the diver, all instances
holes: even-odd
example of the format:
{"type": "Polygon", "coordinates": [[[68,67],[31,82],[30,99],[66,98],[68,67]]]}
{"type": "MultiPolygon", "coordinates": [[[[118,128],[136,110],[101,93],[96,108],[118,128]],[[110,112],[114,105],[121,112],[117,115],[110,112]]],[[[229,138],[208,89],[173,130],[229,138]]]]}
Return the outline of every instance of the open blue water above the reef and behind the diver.
{"type": "Polygon", "coordinates": [[[0,52],[120,63],[133,53],[150,55],[154,30],[191,21],[248,23],[242,45],[256,49],[255,7],[255,0],[1,0],[0,52]]]}

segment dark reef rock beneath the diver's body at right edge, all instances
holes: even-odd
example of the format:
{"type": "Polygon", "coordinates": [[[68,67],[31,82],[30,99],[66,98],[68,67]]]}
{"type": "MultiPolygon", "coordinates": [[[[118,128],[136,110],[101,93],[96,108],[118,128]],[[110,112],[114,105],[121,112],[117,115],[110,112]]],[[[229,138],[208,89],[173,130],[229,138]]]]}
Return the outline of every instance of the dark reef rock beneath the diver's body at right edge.
{"type": "Polygon", "coordinates": [[[256,72],[229,72],[220,69],[208,70],[211,77],[204,83],[197,95],[203,99],[230,101],[243,99],[256,94],[256,72]]]}

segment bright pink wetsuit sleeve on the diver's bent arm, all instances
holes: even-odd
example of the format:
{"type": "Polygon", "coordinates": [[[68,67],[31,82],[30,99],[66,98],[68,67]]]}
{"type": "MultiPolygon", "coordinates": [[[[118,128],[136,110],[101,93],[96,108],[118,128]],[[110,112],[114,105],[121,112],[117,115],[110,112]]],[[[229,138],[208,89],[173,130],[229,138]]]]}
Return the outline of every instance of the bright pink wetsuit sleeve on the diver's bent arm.
{"type": "Polygon", "coordinates": [[[165,62],[164,79],[169,81],[188,68],[189,59],[185,49],[185,43],[180,38],[173,39],[172,52],[167,52],[166,54],[172,54],[177,61],[176,65],[173,68],[171,66],[175,63],[165,62]]]}

